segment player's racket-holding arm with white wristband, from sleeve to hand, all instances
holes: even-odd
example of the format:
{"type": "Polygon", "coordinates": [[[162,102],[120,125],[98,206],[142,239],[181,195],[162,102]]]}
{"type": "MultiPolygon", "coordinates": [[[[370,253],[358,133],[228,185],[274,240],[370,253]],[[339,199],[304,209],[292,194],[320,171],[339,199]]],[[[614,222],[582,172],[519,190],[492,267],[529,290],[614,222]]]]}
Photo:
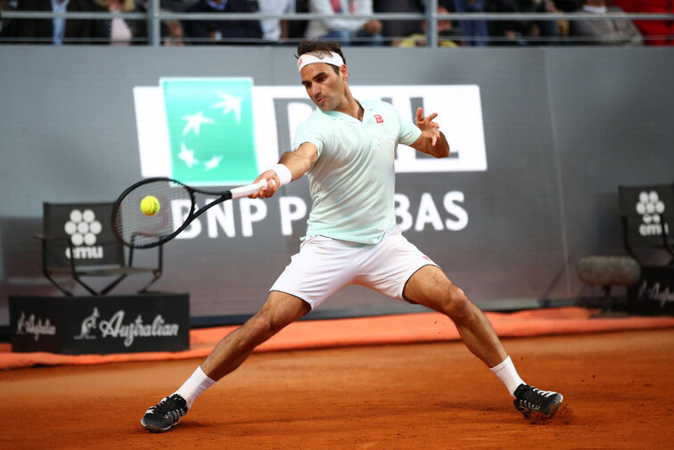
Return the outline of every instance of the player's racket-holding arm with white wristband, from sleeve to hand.
{"type": "Polygon", "coordinates": [[[318,149],[313,143],[302,143],[295,151],[286,151],[274,168],[262,172],[255,183],[267,180],[267,186],[252,194],[251,199],[272,197],[278,188],[304,176],[318,159],[318,149]]]}

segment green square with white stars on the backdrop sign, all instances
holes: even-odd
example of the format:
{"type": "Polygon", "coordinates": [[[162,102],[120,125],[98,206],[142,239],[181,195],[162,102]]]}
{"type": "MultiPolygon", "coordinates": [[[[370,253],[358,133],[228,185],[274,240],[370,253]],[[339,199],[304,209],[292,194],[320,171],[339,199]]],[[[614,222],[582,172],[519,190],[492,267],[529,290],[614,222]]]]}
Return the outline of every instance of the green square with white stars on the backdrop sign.
{"type": "Polygon", "coordinates": [[[164,78],[160,86],[174,178],[239,184],[258,176],[251,78],[164,78]]]}

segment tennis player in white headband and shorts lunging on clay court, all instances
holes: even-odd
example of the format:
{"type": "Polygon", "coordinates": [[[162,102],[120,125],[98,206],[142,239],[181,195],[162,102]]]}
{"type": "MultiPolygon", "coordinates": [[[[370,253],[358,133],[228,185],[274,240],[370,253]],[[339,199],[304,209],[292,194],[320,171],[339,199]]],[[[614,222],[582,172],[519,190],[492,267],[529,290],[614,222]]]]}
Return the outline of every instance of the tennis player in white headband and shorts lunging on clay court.
{"type": "Polygon", "coordinates": [[[423,117],[419,108],[412,123],[389,103],[356,100],[335,42],[304,41],[297,54],[301,83],[317,109],[298,127],[295,150],[258,176],[256,182],[266,179],[267,188],[251,197],[272,197],[278,187],[307,174],[313,208],[300,252],[259,312],[221,340],[175,393],[148,409],[143,426],[171,430],[196,397],[254,348],[349,284],[448,315],[465,346],[506,385],[519,411],[552,417],[562,395],[522,381],[487,317],[395,225],[396,146],[447,157],[448,142],[433,122],[437,114],[423,117]]]}

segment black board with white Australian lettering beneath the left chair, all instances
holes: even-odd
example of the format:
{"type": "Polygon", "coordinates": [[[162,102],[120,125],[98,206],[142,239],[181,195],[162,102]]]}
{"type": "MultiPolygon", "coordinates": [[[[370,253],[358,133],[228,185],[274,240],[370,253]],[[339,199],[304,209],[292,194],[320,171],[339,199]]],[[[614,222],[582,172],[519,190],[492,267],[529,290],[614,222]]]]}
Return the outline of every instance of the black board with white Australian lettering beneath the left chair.
{"type": "Polygon", "coordinates": [[[13,352],[69,355],[189,348],[189,294],[10,297],[13,352]]]}

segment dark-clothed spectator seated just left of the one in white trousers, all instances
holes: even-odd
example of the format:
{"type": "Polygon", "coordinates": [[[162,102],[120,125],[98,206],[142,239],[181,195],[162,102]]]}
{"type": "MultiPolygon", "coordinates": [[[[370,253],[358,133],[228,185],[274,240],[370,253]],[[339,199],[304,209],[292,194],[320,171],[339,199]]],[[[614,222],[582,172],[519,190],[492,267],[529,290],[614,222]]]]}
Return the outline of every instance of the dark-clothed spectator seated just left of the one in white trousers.
{"type": "MultiPolygon", "coordinates": [[[[198,0],[185,12],[255,12],[249,0],[198,0]]],[[[259,20],[185,20],[190,44],[255,44],[262,38],[259,20]]]]}

